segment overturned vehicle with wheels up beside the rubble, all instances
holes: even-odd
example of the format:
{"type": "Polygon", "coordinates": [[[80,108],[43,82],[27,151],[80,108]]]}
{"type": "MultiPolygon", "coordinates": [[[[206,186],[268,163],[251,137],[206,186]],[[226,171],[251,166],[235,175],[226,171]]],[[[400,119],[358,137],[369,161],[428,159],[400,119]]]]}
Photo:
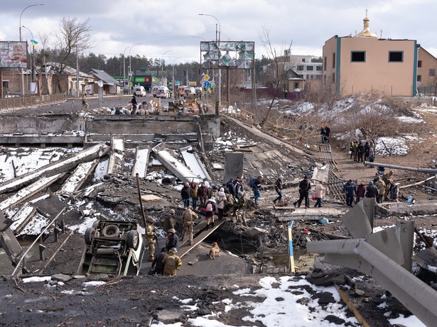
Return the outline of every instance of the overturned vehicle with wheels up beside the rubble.
{"type": "Polygon", "coordinates": [[[85,231],[87,245],[77,273],[138,275],[144,256],[143,238],[138,223],[96,221],[85,231]]]}

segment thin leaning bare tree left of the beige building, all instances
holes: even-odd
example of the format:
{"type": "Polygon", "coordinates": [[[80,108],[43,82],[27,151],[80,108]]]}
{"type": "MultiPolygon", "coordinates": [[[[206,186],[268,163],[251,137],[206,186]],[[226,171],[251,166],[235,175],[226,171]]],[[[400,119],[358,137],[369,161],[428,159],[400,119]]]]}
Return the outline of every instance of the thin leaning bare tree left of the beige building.
{"type": "Polygon", "coordinates": [[[282,56],[280,59],[276,53],[276,49],[273,48],[271,45],[269,28],[266,28],[266,26],[263,26],[262,31],[263,31],[263,35],[261,35],[261,43],[262,43],[264,49],[266,50],[268,57],[271,57],[274,60],[274,64],[273,64],[274,76],[272,77],[272,81],[271,81],[273,88],[274,88],[274,94],[273,94],[273,98],[271,99],[269,109],[266,112],[266,116],[264,116],[261,123],[259,123],[259,125],[261,127],[264,126],[264,123],[266,123],[267,118],[269,118],[271,108],[273,107],[274,101],[276,100],[276,96],[278,94],[279,84],[281,84],[281,81],[284,80],[284,77],[286,75],[286,62],[288,61],[288,57],[289,57],[290,50],[291,50],[291,45],[293,44],[293,41],[291,41],[291,43],[290,43],[290,45],[288,45],[288,48],[286,49],[286,51],[284,51],[285,55],[282,56]],[[282,60],[282,61],[280,61],[280,60],[282,60]]]}

